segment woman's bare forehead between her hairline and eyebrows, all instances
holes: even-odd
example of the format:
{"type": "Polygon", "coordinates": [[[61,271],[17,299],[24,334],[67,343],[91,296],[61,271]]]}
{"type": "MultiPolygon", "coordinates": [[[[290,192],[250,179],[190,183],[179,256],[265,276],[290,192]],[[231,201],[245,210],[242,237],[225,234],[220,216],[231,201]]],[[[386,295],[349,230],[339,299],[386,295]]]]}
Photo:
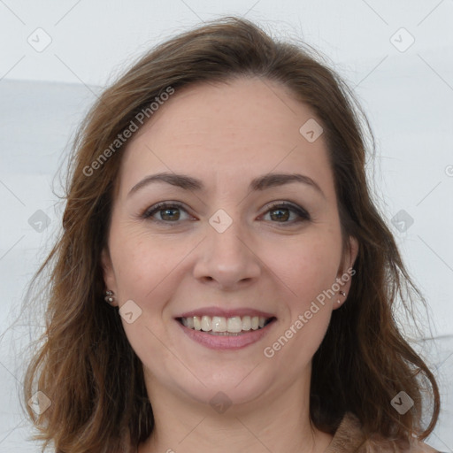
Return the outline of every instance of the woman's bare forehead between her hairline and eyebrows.
{"type": "Polygon", "coordinates": [[[275,172],[307,174],[332,195],[323,135],[309,142],[299,131],[313,119],[306,104],[274,81],[243,78],[183,88],[127,143],[119,190],[150,173],[188,173],[225,189],[232,181],[245,186],[275,172]]]}

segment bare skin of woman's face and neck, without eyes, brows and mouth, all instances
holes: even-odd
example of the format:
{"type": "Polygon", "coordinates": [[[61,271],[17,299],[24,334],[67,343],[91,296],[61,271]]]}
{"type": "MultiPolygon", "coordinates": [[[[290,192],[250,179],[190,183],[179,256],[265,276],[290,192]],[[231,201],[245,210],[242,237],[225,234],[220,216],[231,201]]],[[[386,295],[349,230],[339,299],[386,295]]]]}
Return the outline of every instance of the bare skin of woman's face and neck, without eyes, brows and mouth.
{"type": "MultiPolygon", "coordinates": [[[[354,238],[342,250],[324,137],[308,142],[299,133],[312,118],[287,88],[244,78],[177,91],[127,143],[102,262],[119,307],[133,300],[142,310],[131,324],[121,318],[156,419],[140,453],[321,452],[332,440],[311,426],[311,358],[345,297],[326,298],[273,357],[263,353],[357,257],[354,238]],[[188,174],[206,189],[158,182],[128,196],[160,172],[188,174]],[[250,180],[270,172],[307,175],[324,195],[300,182],[248,192],[250,180]],[[163,201],[184,209],[141,218],[163,201]],[[311,219],[295,223],[292,211],[279,219],[269,211],[274,201],[295,203],[311,219]],[[233,220],[223,233],[209,223],[219,209],[233,220]],[[249,307],[277,320],[244,349],[207,349],[174,320],[207,306],[249,307]],[[209,403],[219,391],[232,403],[223,413],[209,403]]],[[[349,285],[342,285],[347,294],[349,285]]]]}

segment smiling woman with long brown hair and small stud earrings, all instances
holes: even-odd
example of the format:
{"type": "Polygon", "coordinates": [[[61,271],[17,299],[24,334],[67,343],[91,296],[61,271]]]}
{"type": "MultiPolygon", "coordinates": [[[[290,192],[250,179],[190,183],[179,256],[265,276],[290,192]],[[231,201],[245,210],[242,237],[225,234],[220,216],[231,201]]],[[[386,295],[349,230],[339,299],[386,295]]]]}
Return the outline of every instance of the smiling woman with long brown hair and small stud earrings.
{"type": "Polygon", "coordinates": [[[393,317],[420,294],[372,202],[357,111],[312,52],[235,18],[104,91],[39,271],[38,438],[61,453],[435,451],[438,387],[393,317]]]}

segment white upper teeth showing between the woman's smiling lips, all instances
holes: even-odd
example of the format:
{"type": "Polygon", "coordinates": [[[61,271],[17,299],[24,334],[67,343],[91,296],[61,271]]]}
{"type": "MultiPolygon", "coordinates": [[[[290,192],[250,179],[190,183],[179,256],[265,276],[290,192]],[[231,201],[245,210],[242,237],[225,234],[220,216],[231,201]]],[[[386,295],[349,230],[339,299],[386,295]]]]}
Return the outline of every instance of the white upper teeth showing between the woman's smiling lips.
{"type": "Polygon", "coordinates": [[[177,318],[182,326],[188,329],[198,330],[211,335],[242,335],[250,331],[261,330],[272,323],[276,318],[264,318],[262,316],[191,316],[189,318],[177,318]]]}

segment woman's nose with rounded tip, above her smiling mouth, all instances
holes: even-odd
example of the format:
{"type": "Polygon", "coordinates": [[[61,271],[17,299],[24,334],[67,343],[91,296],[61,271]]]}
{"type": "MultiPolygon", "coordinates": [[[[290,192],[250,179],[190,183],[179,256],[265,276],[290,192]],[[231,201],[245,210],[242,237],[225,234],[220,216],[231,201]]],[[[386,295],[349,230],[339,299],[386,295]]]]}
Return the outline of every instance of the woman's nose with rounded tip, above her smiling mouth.
{"type": "Polygon", "coordinates": [[[223,290],[242,288],[257,280],[261,262],[254,250],[256,242],[245,234],[239,223],[234,220],[223,233],[209,224],[206,226],[206,237],[196,249],[194,277],[197,280],[223,290]]]}

